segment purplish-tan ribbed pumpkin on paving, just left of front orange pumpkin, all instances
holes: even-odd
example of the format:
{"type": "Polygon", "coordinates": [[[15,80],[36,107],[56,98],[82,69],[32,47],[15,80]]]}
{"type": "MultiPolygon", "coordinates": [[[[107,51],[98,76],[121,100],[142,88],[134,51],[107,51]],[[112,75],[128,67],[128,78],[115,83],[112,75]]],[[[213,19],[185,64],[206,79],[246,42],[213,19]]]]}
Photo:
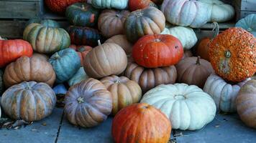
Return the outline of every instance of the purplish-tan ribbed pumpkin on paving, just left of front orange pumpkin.
{"type": "Polygon", "coordinates": [[[81,127],[104,122],[112,110],[111,93],[96,79],[70,87],[65,95],[64,112],[68,121],[81,127]]]}

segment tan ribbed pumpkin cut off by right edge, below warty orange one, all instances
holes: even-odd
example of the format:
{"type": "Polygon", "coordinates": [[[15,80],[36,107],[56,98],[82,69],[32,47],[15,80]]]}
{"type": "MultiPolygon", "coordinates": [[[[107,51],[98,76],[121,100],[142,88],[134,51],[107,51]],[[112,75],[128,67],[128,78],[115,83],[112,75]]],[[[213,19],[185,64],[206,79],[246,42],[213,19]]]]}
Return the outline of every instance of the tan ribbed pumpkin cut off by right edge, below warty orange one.
{"type": "Polygon", "coordinates": [[[248,127],[256,128],[255,123],[255,96],[256,96],[256,80],[250,80],[241,87],[237,95],[237,113],[242,122],[248,127]]]}

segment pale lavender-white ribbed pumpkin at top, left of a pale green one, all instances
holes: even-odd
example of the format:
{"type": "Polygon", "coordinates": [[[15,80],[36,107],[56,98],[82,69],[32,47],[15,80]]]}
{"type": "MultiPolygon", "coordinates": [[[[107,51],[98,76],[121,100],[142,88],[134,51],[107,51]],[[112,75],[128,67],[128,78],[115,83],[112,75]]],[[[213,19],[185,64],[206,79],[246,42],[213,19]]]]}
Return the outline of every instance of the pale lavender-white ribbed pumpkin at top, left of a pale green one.
{"type": "Polygon", "coordinates": [[[161,11],[171,24],[198,28],[209,21],[207,6],[200,1],[164,0],[161,11]]]}

